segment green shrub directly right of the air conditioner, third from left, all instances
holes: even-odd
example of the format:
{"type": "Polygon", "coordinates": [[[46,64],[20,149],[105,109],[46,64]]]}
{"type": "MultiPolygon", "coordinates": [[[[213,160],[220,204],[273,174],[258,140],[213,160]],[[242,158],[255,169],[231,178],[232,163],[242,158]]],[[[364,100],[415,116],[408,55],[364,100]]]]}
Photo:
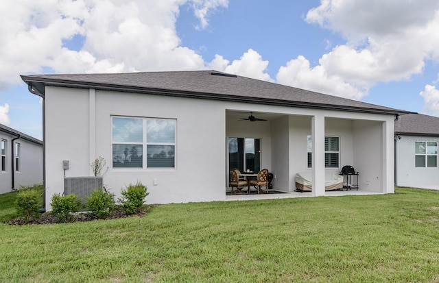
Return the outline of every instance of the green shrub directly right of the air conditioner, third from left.
{"type": "Polygon", "coordinates": [[[115,209],[115,195],[97,188],[87,197],[86,207],[96,217],[104,218],[115,209]]]}

